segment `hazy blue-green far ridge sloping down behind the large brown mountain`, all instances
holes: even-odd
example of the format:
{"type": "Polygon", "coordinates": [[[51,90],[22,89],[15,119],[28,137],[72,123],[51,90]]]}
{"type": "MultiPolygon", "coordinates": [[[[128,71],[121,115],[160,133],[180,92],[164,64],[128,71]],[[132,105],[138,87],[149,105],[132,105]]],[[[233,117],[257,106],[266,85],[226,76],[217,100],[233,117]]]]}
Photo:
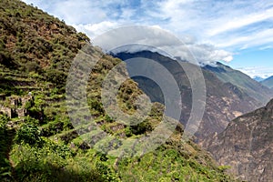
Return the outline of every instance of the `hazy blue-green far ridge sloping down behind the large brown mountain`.
{"type": "Polygon", "coordinates": [[[217,63],[216,66],[205,66],[204,68],[214,73],[222,82],[238,86],[248,96],[260,102],[260,106],[265,106],[273,97],[273,92],[268,87],[262,86],[251,77],[229,66],[217,63]]]}

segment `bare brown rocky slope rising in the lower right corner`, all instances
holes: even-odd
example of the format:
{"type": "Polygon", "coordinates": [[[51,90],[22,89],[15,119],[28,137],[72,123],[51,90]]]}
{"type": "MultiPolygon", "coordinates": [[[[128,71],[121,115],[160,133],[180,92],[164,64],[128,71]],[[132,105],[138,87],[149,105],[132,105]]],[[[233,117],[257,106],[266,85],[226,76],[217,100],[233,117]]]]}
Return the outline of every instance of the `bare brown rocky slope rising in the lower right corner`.
{"type": "Polygon", "coordinates": [[[207,141],[207,149],[221,165],[247,181],[273,178],[273,100],[240,116],[227,129],[207,141]]]}

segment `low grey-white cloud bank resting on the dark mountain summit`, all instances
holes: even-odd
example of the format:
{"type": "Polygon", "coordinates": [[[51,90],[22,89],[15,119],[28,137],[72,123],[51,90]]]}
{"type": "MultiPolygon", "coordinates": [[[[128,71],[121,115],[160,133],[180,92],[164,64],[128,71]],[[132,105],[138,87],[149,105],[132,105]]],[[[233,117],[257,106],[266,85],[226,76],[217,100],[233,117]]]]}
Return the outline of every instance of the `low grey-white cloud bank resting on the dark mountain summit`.
{"type": "Polygon", "coordinates": [[[146,50],[151,51],[163,50],[171,57],[180,57],[182,60],[187,60],[194,64],[202,63],[209,64],[219,60],[231,61],[232,54],[217,50],[213,45],[199,45],[194,42],[192,36],[184,38],[186,43],[180,41],[177,36],[157,28],[157,26],[124,26],[106,32],[106,34],[98,35],[93,40],[95,45],[101,46],[106,52],[112,52],[117,47],[123,46],[118,51],[126,51],[134,53],[136,51],[146,50]],[[135,46],[128,46],[135,45],[135,46]],[[196,59],[197,60],[196,60],[196,59]]]}

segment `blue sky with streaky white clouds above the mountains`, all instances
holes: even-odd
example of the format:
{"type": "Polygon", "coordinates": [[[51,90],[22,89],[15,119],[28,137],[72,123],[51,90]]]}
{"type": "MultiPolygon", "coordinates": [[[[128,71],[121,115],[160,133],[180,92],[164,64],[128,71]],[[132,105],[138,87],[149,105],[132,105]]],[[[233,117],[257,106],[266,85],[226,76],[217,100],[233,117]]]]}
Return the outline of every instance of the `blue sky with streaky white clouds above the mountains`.
{"type": "Polygon", "coordinates": [[[184,41],[200,62],[221,61],[248,76],[273,76],[272,0],[23,1],[91,39],[124,25],[152,25],[184,41]]]}

